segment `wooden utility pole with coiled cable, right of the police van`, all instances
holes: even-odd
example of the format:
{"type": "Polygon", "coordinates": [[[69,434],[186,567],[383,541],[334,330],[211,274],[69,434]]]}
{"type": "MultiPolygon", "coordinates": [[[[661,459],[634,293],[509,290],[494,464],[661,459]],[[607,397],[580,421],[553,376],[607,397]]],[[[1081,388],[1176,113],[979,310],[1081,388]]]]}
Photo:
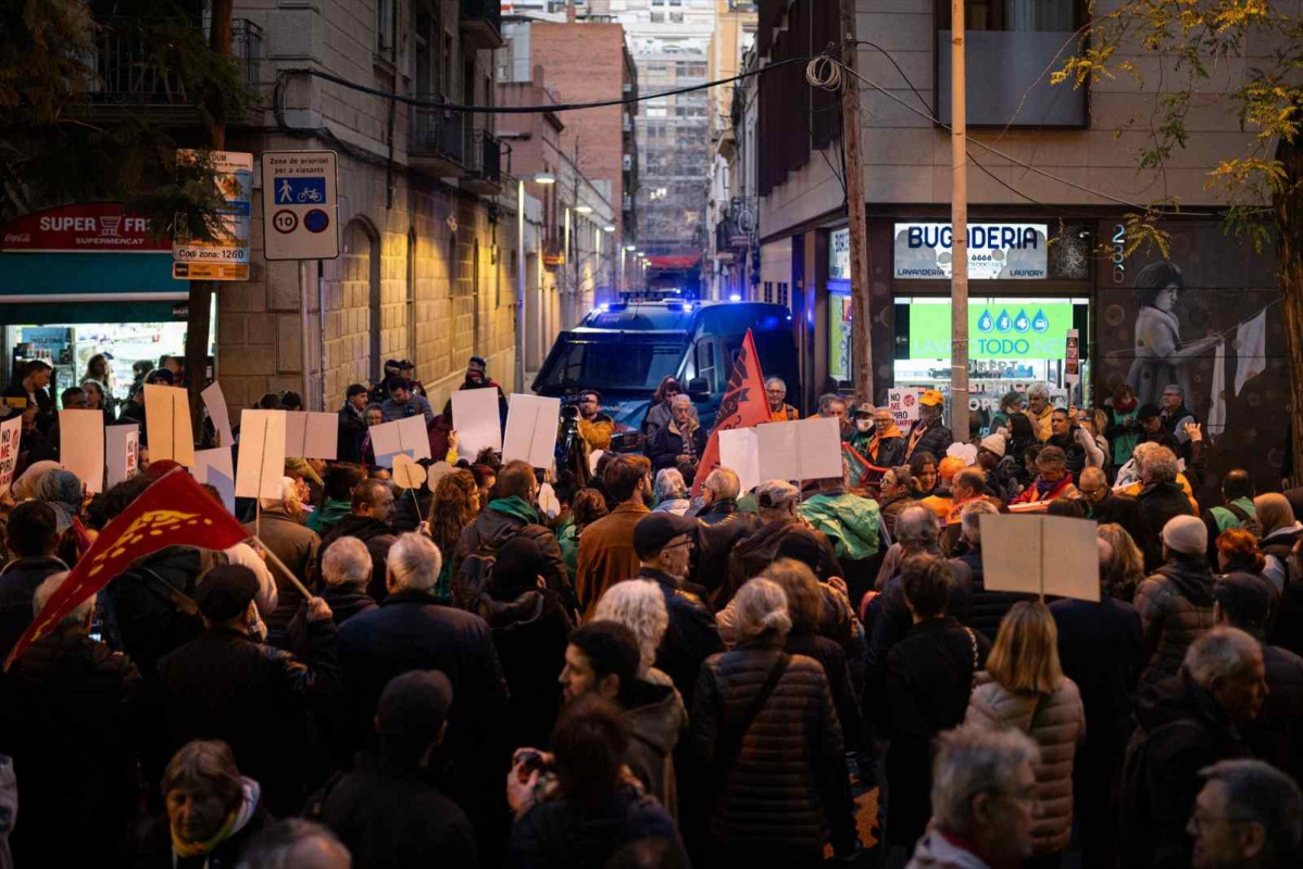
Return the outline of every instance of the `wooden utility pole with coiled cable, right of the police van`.
{"type": "MultiPolygon", "coordinates": [[[[956,0],[962,4],[962,0],[956,0]]],[[[842,0],[842,64],[856,66],[855,0],[842,0]]],[[[873,401],[873,344],[869,335],[869,235],[860,159],[860,83],[842,81],[842,137],[846,146],[846,207],[851,219],[851,343],[856,404],[873,401]]]]}

